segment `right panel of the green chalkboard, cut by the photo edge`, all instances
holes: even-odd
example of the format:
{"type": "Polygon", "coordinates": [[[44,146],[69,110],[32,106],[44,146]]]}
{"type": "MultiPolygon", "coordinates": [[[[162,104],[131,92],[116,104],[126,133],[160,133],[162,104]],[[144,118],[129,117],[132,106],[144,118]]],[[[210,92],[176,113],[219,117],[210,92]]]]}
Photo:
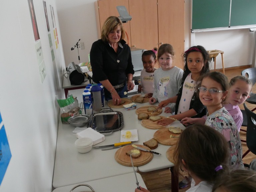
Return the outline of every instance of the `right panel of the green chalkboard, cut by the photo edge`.
{"type": "Polygon", "coordinates": [[[256,0],[232,0],[230,26],[256,25],[256,0]]]}

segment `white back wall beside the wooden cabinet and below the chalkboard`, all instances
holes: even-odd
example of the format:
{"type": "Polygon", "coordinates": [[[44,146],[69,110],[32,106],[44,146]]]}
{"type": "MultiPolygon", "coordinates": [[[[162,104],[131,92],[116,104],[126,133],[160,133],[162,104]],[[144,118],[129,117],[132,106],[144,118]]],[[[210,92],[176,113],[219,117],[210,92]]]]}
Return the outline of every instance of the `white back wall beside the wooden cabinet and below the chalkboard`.
{"type": "MultiPolygon", "coordinates": [[[[88,61],[91,45],[97,38],[95,0],[64,1],[56,0],[62,32],[63,51],[66,66],[74,61],[78,63],[77,49],[71,51],[78,39],[84,42],[85,49],[79,48],[81,62],[88,61]]],[[[214,10],[213,10],[214,11],[214,10]]],[[[185,47],[190,44],[190,16],[191,0],[185,1],[185,47]]],[[[175,26],[174,26],[175,27],[175,26]]],[[[145,29],[146,32],[146,29],[145,29]]],[[[252,62],[252,48],[254,33],[249,29],[200,32],[195,34],[195,44],[202,45],[207,50],[218,49],[224,51],[225,68],[250,65],[252,62]]],[[[214,63],[212,62],[212,68],[214,63]]],[[[216,68],[222,68],[221,56],[216,59],[216,68]]]]}

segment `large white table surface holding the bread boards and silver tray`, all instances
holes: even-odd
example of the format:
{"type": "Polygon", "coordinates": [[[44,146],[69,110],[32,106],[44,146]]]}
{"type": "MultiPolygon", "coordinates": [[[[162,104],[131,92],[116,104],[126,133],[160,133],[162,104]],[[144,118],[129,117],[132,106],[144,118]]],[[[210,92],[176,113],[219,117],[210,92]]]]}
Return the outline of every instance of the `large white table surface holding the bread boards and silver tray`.
{"type": "MultiPolygon", "coordinates": [[[[149,105],[149,103],[136,103],[137,108],[149,105]]],[[[135,110],[127,111],[124,108],[113,108],[114,111],[120,111],[124,117],[123,130],[138,129],[139,141],[134,144],[142,144],[143,142],[153,138],[157,130],[147,129],[142,127],[141,121],[137,119],[135,110]]],[[[169,114],[162,113],[162,116],[169,114]]],[[[184,128],[178,121],[173,123],[174,126],[184,128]]],[[[62,187],[75,183],[93,181],[97,179],[132,173],[131,167],[120,165],[115,161],[115,152],[117,149],[105,150],[92,149],[89,153],[78,153],[74,145],[76,136],[72,131],[74,127],[68,124],[59,123],[58,138],[55,156],[55,166],[53,175],[53,187],[62,187]]],[[[95,145],[110,145],[120,142],[120,131],[115,131],[111,135],[105,136],[105,141],[95,145]]],[[[167,157],[166,151],[170,146],[160,145],[156,152],[162,156],[154,155],[153,159],[146,165],[135,168],[141,172],[148,172],[162,168],[174,166],[167,157]]]]}

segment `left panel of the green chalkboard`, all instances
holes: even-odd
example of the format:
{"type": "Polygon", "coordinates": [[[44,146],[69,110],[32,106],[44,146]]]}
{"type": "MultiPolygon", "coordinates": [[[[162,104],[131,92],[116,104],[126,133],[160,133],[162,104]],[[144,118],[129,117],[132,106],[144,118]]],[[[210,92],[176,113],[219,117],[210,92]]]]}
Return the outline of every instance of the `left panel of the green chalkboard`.
{"type": "Polygon", "coordinates": [[[192,29],[229,26],[230,0],[193,0],[192,29]]]}

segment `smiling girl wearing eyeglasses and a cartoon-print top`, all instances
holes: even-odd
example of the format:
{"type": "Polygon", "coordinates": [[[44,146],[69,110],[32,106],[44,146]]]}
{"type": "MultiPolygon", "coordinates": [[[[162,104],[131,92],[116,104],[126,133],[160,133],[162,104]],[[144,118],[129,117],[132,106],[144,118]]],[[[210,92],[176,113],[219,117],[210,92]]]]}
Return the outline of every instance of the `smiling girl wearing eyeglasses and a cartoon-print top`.
{"type": "Polygon", "coordinates": [[[219,131],[226,138],[230,149],[230,165],[243,168],[240,135],[232,116],[223,106],[228,94],[228,79],[220,72],[212,72],[201,76],[200,80],[197,86],[199,98],[208,110],[205,125],[219,131]]]}

